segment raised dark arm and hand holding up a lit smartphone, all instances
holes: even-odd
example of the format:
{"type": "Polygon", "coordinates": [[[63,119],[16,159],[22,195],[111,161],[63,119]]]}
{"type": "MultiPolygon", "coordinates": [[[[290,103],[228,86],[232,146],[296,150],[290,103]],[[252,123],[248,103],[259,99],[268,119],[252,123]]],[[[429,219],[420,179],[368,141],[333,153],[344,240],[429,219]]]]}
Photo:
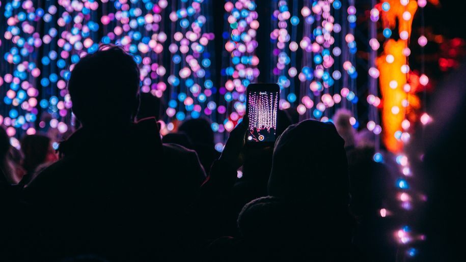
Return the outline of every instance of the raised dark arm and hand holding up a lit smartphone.
{"type": "MultiPolygon", "coordinates": [[[[280,88],[275,83],[249,84],[246,90],[246,114],[239,124],[230,132],[220,158],[212,164],[209,176],[201,187],[199,210],[200,221],[210,221],[204,232],[211,237],[232,235],[236,231],[236,217],[241,207],[249,200],[265,194],[266,179],[263,185],[240,185],[236,191],[237,170],[244,160],[252,169],[257,168],[252,162],[261,162],[270,168],[271,148],[277,138],[277,117],[280,88]],[[265,156],[265,157],[262,157],[265,156]],[[267,160],[267,158],[270,158],[267,160]],[[259,188],[244,190],[243,188],[259,188]],[[259,195],[257,194],[258,192],[259,195]],[[253,196],[253,197],[251,197],[253,196]],[[247,199],[244,201],[244,199],[247,199]],[[215,208],[212,208],[215,207],[215,208]],[[208,215],[207,215],[208,214],[208,215]],[[212,219],[213,218],[213,219],[212,219]],[[210,231],[210,232],[208,232],[210,231]],[[218,232],[222,232],[218,235],[218,232]]],[[[251,174],[254,176],[255,174],[251,174]]],[[[259,179],[260,180],[260,179],[259,179]]]]}

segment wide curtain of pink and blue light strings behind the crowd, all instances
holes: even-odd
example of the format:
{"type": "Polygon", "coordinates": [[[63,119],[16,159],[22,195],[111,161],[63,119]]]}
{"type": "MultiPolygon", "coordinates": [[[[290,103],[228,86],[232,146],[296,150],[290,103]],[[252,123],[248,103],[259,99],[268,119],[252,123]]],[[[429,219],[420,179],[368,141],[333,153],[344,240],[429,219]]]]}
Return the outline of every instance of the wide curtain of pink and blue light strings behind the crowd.
{"type": "MultiPolygon", "coordinates": [[[[269,78],[282,88],[280,107],[294,106],[301,118],[323,121],[332,113],[326,109],[341,100],[341,106],[354,110],[358,97],[352,2],[346,10],[346,1],[304,0],[300,12],[299,1],[270,3],[275,11],[269,78]],[[303,32],[297,40],[299,23],[303,32]]],[[[98,50],[99,44],[118,44],[133,54],[141,68],[141,91],[166,100],[162,133],[201,115],[211,119],[213,131],[230,131],[245,113],[246,86],[259,76],[255,1],[224,5],[227,55],[218,89],[211,77],[211,1],[13,0],[4,5],[1,21],[7,26],[2,27],[6,32],[0,47],[7,63],[1,65],[0,120],[11,136],[18,130],[17,136],[36,129],[70,130],[66,81],[80,57],[98,50]]]]}

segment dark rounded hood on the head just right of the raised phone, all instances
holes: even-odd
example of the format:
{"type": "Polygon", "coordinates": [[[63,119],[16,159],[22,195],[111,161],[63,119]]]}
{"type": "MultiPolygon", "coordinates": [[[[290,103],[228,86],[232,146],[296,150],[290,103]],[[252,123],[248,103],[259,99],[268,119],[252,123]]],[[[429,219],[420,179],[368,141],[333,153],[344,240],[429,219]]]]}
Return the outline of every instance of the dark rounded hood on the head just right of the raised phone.
{"type": "Polygon", "coordinates": [[[344,140],[328,122],[303,121],[288,127],[273,150],[268,193],[312,206],[349,205],[344,140]]]}

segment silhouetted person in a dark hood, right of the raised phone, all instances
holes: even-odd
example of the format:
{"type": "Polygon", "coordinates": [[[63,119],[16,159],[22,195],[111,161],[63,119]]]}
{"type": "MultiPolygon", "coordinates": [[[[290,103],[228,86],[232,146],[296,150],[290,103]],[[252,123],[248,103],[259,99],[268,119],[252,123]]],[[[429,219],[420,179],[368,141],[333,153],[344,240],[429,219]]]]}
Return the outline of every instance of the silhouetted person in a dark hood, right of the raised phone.
{"type": "Polygon", "coordinates": [[[360,261],[351,246],[348,164],[331,123],[288,127],[273,151],[268,197],[244,206],[243,259],[360,261]]]}

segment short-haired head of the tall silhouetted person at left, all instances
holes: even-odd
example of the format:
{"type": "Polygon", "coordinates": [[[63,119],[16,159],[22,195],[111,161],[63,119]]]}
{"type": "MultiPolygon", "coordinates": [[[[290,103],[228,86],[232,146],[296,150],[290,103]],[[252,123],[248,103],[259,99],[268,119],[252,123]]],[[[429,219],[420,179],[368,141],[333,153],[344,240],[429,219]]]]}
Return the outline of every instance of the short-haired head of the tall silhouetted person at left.
{"type": "Polygon", "coordinates": [[[140,73],[118,46],[102,46],[74,66],[68,82],[72,110],[83,127],[128,125],[139,107],[140,73]]]}

